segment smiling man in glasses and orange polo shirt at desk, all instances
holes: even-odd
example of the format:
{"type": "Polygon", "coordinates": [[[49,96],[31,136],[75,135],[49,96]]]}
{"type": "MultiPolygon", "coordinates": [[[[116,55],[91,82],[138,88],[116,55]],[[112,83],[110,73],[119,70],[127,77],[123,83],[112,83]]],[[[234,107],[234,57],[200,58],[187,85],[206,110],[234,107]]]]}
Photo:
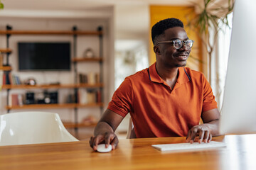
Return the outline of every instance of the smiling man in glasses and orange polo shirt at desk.
{"type": "Polygon", "coordinates": [[[193,40],[183,23],[168,18],[151,29],[156,63],[124,79],[91,137],[90,146],[115,149],[117,129],[130,113],[137,137],[186,136],[187,142],[210,142],[218,135],[220,113],[210,84],[200,72],[185,68],[193,40]],[[198,125],[202,118],[202,125],[198,125]]]}

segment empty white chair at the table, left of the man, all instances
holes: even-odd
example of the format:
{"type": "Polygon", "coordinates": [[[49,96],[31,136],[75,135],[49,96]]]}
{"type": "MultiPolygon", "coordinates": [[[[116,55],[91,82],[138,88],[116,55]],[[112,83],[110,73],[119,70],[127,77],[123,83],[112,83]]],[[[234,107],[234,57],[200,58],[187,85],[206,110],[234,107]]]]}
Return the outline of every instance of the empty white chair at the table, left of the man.
{"type": "Polygon", "coordinates": [[[20,112],[0,115],[0,146],[78,141],[57,113],[20,112]]]}

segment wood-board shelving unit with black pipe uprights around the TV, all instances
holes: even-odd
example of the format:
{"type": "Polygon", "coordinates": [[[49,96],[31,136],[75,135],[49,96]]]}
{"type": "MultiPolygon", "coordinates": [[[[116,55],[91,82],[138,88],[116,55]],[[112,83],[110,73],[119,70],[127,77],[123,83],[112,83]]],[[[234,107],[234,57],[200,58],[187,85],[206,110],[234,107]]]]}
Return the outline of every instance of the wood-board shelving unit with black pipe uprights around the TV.
{"type": "Polygon", "coordinates": [[[66,128],[75,128],[75,130],[78,130],[78,128],[83,127],[92,127],[95,126],[95,123],[92,124],[81,124],[78,122],[78,108],[100,108],[100,112],[102,113],[103,109],[103,102],[102,102],[102,91],[104,84],[102,83],[102,28],[98,27],[96,31],[81,31],[78,30],[75,26],[73,27],[73,30],[12,30],[11,26],[6,26],[6,30],[0,30],[0,35],[6,35],[6,48],[1,48],[0,52],[6,56],[6,63],[4,66],[0,66],[1,70],[4,70],[4,72],[11,72],[11,66],[9,64],[9,55],[11,54],[12,50],[9,48],[9,38],[11,35],[67,35],[73,36],[73,58],[71,61],[73,62],[74,66],[74,73],[75,73],[75,79],[74,84],[36,84],[35,86],[31,85],[14,85],[14,84],[4,84],[2,86],[2,89],[5,89],[7,91],[7,106],[5,107],[7,110],[7,113],[9,113],[10,110],[13,109],[48,109],[48,108],[73,108],[75,111],[75,123],[64,123],[66,128]],[[80,58],[77,56],[77,38],[78,36],[83,35],[95,35],[99,38],[99,50],[100,50],[100,57],[93,57],[93,58],[80,58]],[[78,67],[77,64],[80,62],[98,62],[100,64],[100,83],[97,84],[78,84],[77,74],[78,74],[78,67]],[[79,88],[88,88],[88,89],[100,89],[101,94],[101,101],[98,103],[87,103],[87,104],[80,104],[78,103],[78,89],[79,88]],[[11,89],[74,89],[76,94],[76,100],[75,103],[58,103],[58,104],[30,104],[30,105],[22,105],[22,106],[9,106],[9,97],[10,97],[10,90],[11,89]]]}

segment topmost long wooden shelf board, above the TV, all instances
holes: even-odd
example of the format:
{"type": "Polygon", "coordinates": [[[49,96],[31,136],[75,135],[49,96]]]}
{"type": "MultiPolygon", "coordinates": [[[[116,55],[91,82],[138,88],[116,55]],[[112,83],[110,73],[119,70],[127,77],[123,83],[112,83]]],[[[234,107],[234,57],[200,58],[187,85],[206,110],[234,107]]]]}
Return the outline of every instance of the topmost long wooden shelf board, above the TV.
{"type": "Polygon", "coordinates": [[[0,34],[11,35],[102,35],[102,31],[80,30],[0,30],[0,34]]]}

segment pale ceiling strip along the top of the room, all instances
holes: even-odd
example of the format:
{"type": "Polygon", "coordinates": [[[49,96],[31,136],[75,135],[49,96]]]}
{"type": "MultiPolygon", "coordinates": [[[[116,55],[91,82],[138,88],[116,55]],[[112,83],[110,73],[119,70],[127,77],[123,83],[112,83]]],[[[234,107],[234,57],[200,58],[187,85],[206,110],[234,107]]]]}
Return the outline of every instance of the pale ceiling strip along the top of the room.
{"type": "Polygon", "coordinates": [[[8,9],[85,10],[114,5],[188,5],[197,0],[2,0],[8,9]]]}

